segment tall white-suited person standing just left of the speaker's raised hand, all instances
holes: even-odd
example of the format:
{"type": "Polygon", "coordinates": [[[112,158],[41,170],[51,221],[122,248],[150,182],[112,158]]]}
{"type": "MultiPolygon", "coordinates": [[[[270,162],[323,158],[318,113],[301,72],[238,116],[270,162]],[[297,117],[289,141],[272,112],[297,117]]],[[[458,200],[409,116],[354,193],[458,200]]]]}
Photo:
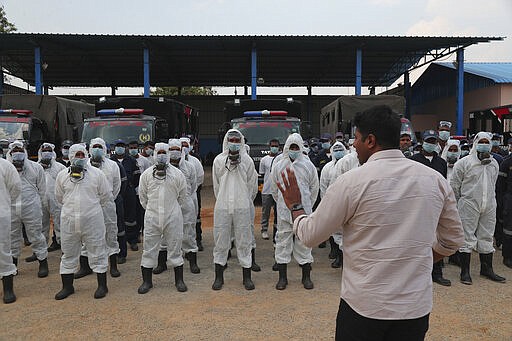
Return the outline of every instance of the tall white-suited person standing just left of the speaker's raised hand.
{"type": "Polygon", "coordinates": [[[240,131],[228,130],[222,143],[222,153],[213,160],[213,290],[222,289],[224,284],[224,269],[233,230],[238,262],[243,269],[243,285],[246,290],[254,289],[251,279],[251,206],[258,193],[258,174],[244,144],[244,137],[240,131]]]}

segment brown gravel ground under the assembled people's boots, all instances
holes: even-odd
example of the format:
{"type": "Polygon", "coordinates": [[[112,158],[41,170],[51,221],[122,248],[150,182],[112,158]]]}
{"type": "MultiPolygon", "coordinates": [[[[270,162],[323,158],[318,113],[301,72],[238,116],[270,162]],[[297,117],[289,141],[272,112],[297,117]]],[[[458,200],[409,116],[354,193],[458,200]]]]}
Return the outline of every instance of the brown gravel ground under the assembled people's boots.
{"type": "MultiPolygon", "coordinates": [[[[205,180],[211,184],[209,173],[205,180]]],[[[109,293],[95,300],[95,276],[75,281],[75,294],[63,301],[54,299],[61,288],[59,252],[48,257],[50,275],[37,278],[37,264],[25,263],[29,247],[23,249],[19,274],[14,279],[18,300],[0,304],[0,340],[329,340],[333,339],[339,305],[341,271],[332,269],[329,249],[315,248],[313,290],[300,283],[301,269],[292,263],[289,285],[277,291],[272,242],[262,240],[256,224],[257,262],[253,272],[256,289],[246,291],[236,256],[225,271],[225,285],[213,291],[213,195],[203,187],[203,227],[205,251],[198,255],[200,274],[191,274],[185,265],[188,292],[174,287],[174,274],[153,276],[154,288],[139,295],[141,251],[128,251],[126,264],[119,266],[119,278],[108,277],[109,293]]],[[[257,207],[257,222],[260,208],[257,207]]],[[[141,248],[142,249],[142,248],[141,248]]],[[[478,275],[478,255],[473,254],[473,285],[458,281],[459,269],[446,265],[445,277],[452,287],[434,285],[434,309],[427,340],[512,340],[512,270],[501,264],[497,253],[494,267],[509,278],[493,283],[478,275]]],[[[293,261],[292,261],[293,262],[293,261]]]]}

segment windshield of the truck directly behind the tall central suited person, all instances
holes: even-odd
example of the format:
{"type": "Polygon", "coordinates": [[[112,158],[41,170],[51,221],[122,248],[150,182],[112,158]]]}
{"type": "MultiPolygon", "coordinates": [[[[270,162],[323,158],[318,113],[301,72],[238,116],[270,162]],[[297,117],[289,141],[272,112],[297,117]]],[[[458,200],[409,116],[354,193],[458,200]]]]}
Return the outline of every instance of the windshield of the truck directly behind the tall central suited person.
{"type": "Polygon", "coordinates": [[[289,121],[234,122],[233,128],[244,135],[246,143],[249,145],[266,145],[272,139],[278,139],[279,144],[284,144],[290,134],[300,132],[300,123],[289,121]]]}

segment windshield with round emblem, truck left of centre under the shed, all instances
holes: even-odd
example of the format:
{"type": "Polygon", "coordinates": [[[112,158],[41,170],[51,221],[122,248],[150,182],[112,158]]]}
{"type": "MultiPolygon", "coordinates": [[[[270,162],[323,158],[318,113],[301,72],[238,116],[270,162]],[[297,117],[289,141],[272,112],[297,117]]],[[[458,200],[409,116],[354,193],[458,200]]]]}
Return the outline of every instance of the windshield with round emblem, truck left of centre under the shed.
{"type": "Polygon", "coordinates": [[[89,143],[101,137],[107,143],[121,139],[126,143],[138,141],[142,144],[153,139],[153,123],[137,120],[98,120],[84,123],[82,142],[89,143]]]}

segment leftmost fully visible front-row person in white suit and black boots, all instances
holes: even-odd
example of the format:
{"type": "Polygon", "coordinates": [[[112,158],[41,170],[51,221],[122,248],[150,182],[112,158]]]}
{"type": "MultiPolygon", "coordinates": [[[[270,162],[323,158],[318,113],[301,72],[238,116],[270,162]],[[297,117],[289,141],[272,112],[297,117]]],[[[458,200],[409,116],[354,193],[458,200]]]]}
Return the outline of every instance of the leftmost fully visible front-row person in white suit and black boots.
{"type": "Polygon", "coordinates": [[[69,160],[69,168],[61,171],[55,181],[55,198],[62,205],[62,290],[55,295],[55,299],[65,299],[75,292],[73,279],[82,243],[87,249],[92,271],[97,276],[98,288],[94,298],[102,298],[108,292],[108,253],[102,208],[108,207],[113,200],[112,188],[105,174],[88,163],[85,146],[72,145],[69,148],[69,160]]]}

